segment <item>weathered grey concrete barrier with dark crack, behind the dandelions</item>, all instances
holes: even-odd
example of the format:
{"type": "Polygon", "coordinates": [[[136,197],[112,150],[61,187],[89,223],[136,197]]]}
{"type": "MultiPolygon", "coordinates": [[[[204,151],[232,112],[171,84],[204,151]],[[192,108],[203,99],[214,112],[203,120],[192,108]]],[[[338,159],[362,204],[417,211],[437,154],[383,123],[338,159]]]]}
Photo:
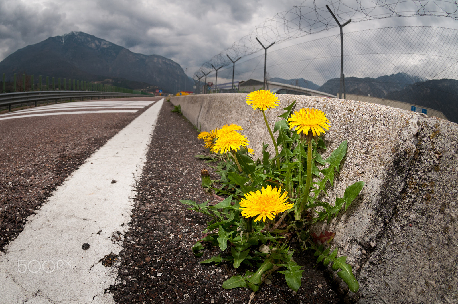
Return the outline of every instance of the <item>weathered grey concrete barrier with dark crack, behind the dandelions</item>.
{"type": "MultiPolygon", "coordinates": [[[[259,152],[270,137],[262,114],[245,103],[245,96],[190,95],[171,101],[201,130],[227,123],[243,126],[249,147],[259,152]]],[[[271,127],[282,108],[297,99],[296,110],[320,109],[331,122],[323,157],[348,140],[335,189],[328,191],[330,201],[355,181],[366,183],[347,212],[313,228],[335,232],[331,245],[349,257],[360,290],[351,293],[340,284],[347,301],[457,303],[458,125],[379,104],[279,98],[280,106],[266,111],[271,127]]]]}

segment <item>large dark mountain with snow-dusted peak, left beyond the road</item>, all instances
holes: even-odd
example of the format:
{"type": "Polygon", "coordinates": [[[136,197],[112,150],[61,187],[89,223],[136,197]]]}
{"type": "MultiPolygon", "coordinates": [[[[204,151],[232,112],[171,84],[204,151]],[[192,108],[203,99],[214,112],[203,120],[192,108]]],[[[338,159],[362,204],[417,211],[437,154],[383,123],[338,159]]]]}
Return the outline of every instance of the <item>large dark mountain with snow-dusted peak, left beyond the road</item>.
{"type": "Polygon", "coordinates": [[[164,92],[190,91],[193,85],[173,60],[160,55],[133,53],[82,32],[49,37],[19,49],[0,62],[0,72],[8,77],[13,73],[27,73],[85,81],[124,78],[162,88],[164,92]]]}

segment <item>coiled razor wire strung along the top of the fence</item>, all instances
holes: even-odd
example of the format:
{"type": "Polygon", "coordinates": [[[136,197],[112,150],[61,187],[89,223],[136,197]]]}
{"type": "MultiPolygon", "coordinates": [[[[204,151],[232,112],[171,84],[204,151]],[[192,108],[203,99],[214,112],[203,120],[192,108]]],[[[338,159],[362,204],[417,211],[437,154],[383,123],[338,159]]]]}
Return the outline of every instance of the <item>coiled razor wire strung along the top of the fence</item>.
{"type": "MultiPolygon", "coordinates": [[[[343,22],[351,19],[352,23],[390,17],[437,16],[458,20],[458,3],[456,0],[323,0],[320,6],[315,0],[304,0],[289,11],[279,12],[273,18],[262,22],[248,35],[234,42],[221,53],[205,62],[193,78],[213,71],[213,66],[227,66],[232,62],[228,59],[245,57],[262,49],[256,41],[262,43],[281,43],[305,35],[320,33],[337,27],[333,17],[326,8],[328,5],[334,14],[343,22]],[[321,5],[322,4],[322,5],[321,5]]],[[[270,53],[269,53],[270,54],[270,53]]]]}

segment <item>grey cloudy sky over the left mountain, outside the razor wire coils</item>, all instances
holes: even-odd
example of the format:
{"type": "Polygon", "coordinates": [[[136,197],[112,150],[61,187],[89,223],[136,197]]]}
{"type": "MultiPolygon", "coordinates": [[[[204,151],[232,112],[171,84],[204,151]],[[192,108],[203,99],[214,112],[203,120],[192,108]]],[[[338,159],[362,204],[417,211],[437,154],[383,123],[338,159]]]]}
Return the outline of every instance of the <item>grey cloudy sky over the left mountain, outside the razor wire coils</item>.
{"type": "MultiPolygon", "coordinates": [[[[320,0],[315,2],[320,5],[320,0]]],[[[338,6],[338,1],[333,2],[338,6]]],[[[302,0],[0,0],[0,60],[48,37],[82,31],[136,53],[170,58],[192,76],[205,61],[253,32],[267,18],[301,3],[302,0]]],[[[458,28],[458,21],[450,17],[388,18],[357,22],[347,28],[355,31],[393,25],[458,28]]],[[[336,28],[321,35],[335,33],[336,28]]],[[[287,44],[278,43],[275,47],[287,44]]]]}

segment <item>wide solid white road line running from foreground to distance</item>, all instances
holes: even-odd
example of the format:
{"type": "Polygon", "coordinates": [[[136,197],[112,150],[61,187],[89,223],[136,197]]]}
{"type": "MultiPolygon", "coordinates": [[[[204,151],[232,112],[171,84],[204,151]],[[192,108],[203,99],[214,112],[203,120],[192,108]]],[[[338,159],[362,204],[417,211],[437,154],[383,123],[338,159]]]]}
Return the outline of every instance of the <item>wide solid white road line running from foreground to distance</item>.
{"type": "Polygon", "coordinates": [[[0,303],[115,303],[104,291],[118,270],[99,261],[122,249],[111,238],[128,229],[136,179],[163,101],[111,138],[27,218],[0,256],[0,303]]]}

